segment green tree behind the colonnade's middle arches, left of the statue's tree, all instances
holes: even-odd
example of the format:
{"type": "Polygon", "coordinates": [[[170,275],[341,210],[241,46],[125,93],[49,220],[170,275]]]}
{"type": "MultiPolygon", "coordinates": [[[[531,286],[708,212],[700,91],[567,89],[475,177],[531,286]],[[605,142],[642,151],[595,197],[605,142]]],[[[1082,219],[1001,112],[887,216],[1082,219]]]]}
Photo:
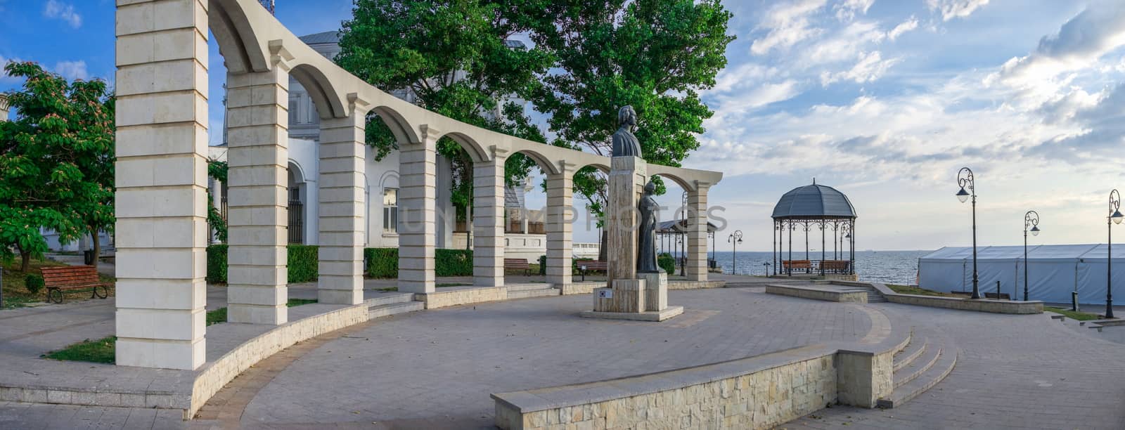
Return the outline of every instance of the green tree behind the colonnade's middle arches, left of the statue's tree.
{"type": "MultiPolygon", "coordinates": [[[[387,91],[405,91],[414,102],[479,127],[546,142],[521,106],[503,100],[526,97],[537,77],[551,65],[540,48],[506,44],[528,30],[511,1],[356,0],[352,19],[343,23],[335,61],[387,91]]],[[[381,159],[397,142],[386,124],[368,117],[367,142],[381,159]]],[[[472,165],[457,142],[442,138],[438,152],[452,162],[452,203],[467,217],[472,201],[472,165]]],[[[513,154],[505,165],[513,183],[533,162],[513,154]]]]}

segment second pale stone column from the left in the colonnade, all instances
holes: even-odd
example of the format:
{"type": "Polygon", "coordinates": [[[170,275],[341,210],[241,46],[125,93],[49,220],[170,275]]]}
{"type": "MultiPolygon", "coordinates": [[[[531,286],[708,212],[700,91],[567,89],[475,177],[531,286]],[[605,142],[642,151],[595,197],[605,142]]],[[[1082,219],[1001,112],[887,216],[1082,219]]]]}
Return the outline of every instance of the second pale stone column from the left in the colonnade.
{"type": "Polygon", "coordinates": [[[227,73],[226,320],[285,324],[289,73],[227,73]]]}

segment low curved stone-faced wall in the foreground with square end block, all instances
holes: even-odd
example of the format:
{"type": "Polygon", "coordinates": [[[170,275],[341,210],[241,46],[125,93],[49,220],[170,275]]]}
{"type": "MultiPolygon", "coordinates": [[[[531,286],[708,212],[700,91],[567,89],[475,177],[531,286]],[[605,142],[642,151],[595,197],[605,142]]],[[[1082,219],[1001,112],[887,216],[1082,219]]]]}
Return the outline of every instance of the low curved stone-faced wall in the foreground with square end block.
{"type": "MultiPolygon", "coordinates": [[[[588,384],[493,394],[496,427],[767,429],[836,402],[874,407],[893,389],[883,350],[810,346],[588,384]]],[[[862,346],[861,346],[862,347],[862,346]]]]}

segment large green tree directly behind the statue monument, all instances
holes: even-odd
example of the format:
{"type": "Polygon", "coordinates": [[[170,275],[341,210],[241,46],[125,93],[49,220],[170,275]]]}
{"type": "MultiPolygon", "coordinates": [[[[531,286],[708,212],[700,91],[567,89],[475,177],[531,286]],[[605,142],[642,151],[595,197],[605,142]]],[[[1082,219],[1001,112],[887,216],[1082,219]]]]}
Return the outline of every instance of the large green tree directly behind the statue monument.
{"type": "MultiPolygon", "coordinates": [[[[548,115],[555,144],[610,155],[618,109],[632,105],[646,161],[676,165],[699,147],[712,111],[699,91],[727,65],[731,14],[719,0],[542,1],[531,39],[557,63],[530,100],[548,115]]],[[[605,176],[575,176],[587,209],[602,216],[605,176]]],[[[664,194],[657,182],[658,194],[664,194]]],[[[601,225],[598,225],[601,226],[601,225]]],[[[602,235],[604,260],[605,235],[602,235]]]]}

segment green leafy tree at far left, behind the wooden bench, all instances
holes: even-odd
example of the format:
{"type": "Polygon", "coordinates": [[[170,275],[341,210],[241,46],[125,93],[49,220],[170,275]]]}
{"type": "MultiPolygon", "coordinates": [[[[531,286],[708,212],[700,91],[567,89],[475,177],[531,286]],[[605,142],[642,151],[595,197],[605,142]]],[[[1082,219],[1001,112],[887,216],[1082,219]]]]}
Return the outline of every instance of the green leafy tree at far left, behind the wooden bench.
{"type": "MultiPolygon", "coordinates": [[[[63,242],[111,232],[114,217],[114,100],[100,80],[68,82],[35,63],[11,62],[24,78],[8,93],[18,113],[0,122],[0,253],[15,247],[27,271],[46,251],[40,227],[63,242]]],[[[97,259],[94,260],[97,265],[97,259]]]]}

